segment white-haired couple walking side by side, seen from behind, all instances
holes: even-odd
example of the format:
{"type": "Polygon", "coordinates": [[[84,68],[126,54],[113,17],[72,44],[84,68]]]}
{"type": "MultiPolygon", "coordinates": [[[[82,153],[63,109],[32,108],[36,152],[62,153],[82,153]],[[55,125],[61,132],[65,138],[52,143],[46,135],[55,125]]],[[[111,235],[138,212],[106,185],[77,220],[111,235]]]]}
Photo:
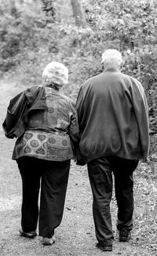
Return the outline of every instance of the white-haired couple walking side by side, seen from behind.
{"type": "Polygon", "coordinates": [[[104,51],[102,64],[104,71],[81,86],[76,107],[60,93],[68,82],[68,68],[55,61],[46,65],[42,86],[25,90],[9,103],[3,128],[6,137],[17,137],[13,159],[22,178],[21,236],[37,236],[38,223],[42,243],[55,242],[70,161],[76,159],[88,168],[96,246],[112,251],[112,174],[119,241],[130,240],[133,171],[139,159],[148,156],[148,106],[141,83],[121,73],[122,54],[118,50],[104,51]]]}

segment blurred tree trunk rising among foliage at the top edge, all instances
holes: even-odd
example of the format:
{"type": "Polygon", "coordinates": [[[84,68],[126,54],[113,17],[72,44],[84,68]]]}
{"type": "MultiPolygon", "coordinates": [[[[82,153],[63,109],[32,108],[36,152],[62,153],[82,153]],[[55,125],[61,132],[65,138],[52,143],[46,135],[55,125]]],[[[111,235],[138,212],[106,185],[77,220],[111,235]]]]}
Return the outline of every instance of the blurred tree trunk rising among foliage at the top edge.
{"type": "Polygon", "coordinates": [[[80,0],[71,0],[71,5],[75,17],[75,24],[79,27],[86,27],[86,16],[80,0]]]}

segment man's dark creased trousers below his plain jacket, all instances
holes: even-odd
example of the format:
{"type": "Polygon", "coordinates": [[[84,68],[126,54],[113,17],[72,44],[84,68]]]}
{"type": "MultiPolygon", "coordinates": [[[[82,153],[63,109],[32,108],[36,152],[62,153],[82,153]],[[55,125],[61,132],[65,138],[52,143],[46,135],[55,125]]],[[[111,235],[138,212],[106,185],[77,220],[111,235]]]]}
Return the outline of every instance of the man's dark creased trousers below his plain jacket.
{"type": "Polygon", "coordinates": [[[115,176],[115,197],[118,205],[118,230],[133,229],[133,170],[138,160],[115,156],[94,159],[87,164],[93,192],[93,219],[99,243],[111,245],[113,232],[110,203],[112,172],[115,176]]]}

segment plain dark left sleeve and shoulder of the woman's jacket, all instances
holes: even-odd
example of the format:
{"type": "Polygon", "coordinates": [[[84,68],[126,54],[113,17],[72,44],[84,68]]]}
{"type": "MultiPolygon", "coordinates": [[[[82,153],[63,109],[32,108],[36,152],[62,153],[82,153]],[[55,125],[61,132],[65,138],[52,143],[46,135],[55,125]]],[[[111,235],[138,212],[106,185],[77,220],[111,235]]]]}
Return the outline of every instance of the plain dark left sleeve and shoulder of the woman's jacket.
{"type": "Polygon", "coordinates": [[[32,110],[45,110],[46,94],[42,86],[33,86],[19,93],[9,102],[4,123],[5,136],[20,137],[27,127],[27,115],[32,110]]]}

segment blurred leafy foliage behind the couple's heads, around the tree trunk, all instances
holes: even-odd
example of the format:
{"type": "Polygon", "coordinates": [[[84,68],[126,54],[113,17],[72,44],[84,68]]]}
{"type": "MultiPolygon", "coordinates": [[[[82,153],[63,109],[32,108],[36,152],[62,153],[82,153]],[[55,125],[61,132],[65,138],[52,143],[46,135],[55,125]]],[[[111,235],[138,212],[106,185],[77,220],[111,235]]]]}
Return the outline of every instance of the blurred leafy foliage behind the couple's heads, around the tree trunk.
{"type": "Polygon", "coordinates": [[[85,79],[101,71],[104,49],[119,49],[122,71],[139,79],[148,98],[150,133],[157,133],[157,2],[82,0],[88,27],[76,27],[71,1],[1,0],[0,72],[26,85],[42,82],[51,60],[69,68],[64,93],[75,100],[85,79]]]}

